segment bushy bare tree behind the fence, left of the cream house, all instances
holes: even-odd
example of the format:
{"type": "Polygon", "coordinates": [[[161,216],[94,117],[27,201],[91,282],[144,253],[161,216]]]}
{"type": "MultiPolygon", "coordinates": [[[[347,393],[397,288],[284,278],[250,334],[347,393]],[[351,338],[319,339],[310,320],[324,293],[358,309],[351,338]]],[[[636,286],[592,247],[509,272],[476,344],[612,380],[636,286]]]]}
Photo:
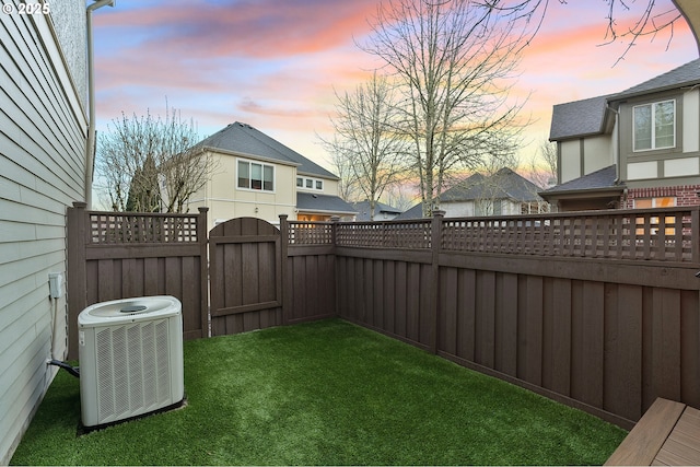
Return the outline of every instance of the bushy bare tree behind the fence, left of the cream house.
{"type": "Polygon", "coordinates": [[[176,109],[165,120],[122,114],[108,128],[100,137],[96,168],[115,211],[182,212],[215,170],[196,145],[194,122],[176,109]]]}

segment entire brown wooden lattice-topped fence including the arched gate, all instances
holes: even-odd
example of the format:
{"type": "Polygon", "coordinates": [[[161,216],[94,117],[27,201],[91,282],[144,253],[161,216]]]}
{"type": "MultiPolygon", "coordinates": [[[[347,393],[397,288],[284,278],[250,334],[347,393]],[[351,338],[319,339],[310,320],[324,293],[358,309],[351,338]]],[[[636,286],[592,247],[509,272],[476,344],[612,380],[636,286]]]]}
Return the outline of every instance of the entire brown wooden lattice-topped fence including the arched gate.
{"type": "Polygon", "coordinates": [[[340,316],[622,427],[656,397],[700,407],[698,207],[281,217],[279,230],[237,219],[208,240],[206,210],[77,205],[68,224],[72,324],[92,303],[172,294],[183,301],[185,336],[207,337],[211,276],[215,335],[340,316]]]}

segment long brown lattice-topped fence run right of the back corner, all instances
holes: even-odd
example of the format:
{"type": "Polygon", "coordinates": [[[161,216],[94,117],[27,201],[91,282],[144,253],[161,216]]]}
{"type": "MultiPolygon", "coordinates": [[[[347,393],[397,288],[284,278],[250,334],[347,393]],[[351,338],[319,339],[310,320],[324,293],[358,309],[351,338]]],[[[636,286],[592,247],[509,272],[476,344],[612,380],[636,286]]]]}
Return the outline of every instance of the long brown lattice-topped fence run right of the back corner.
{"type": "Polygon", "coordinates": [[[629,428],[700,407],[699,213],[339,223],[338,314],[629,428]]]}

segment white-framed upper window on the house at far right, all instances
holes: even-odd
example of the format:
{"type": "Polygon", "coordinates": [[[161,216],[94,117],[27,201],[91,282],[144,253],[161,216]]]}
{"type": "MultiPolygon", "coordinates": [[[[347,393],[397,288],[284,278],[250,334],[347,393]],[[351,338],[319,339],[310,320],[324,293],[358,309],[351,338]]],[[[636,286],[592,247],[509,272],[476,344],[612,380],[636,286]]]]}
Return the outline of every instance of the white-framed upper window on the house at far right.
{"type": "Polygon", "coordinates": [[[633,115],[634,151],[676,145],[676,101],[638,105],[633,115]]]}

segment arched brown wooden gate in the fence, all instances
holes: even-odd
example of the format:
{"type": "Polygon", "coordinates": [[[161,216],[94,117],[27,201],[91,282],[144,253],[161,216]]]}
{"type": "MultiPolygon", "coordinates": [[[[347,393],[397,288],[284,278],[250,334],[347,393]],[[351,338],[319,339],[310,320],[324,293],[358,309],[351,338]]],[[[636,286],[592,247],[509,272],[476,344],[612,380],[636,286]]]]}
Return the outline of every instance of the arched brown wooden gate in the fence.
{"type": "Polygon", "coordinates": [[[278,326],[282,316],[280,231],[238,218],[209,232],[211,335],[278,326]]]}

